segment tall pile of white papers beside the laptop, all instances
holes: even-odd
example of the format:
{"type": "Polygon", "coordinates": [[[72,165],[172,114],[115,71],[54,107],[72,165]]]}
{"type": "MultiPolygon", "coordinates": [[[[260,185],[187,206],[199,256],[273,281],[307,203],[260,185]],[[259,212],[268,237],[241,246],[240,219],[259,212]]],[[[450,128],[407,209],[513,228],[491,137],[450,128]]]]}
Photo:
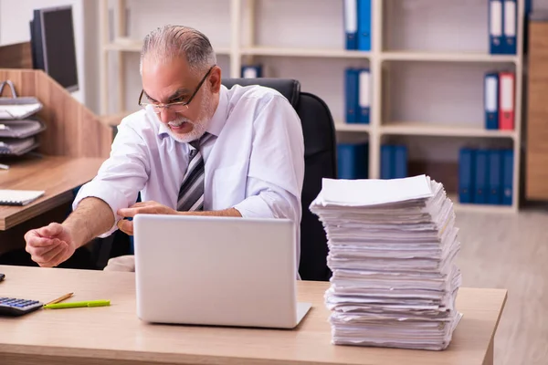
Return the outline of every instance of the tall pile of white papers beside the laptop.
{"type": "Polygon", "coordinates": [[[332,343],[446,349],[462,314],[453,203],[426,175],[324,179],[311,203],[328,238],[332,343]]]}

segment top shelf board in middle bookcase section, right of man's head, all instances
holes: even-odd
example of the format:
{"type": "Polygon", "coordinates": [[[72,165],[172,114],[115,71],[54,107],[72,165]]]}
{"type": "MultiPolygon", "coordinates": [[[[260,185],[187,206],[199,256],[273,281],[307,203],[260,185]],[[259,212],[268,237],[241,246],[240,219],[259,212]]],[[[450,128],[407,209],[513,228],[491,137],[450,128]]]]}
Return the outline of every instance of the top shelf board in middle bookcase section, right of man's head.
{"type": "Polygon", "coordinates": [[[240,50],[242,55],[279,57],[326,57],[326,58],[368,58],[370,52],[333,48],[285,48],[247,47],[240,50]]]}

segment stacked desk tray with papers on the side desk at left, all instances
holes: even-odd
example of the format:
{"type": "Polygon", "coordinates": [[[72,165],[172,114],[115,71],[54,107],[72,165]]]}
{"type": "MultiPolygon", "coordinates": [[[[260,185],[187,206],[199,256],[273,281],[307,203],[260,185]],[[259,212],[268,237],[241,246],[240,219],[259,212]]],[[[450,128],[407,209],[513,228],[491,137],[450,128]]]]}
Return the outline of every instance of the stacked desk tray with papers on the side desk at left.
{"type": "Polygon", "coordinates": [[[36,136],[46,127],[35,114],[42,110],[42,103],[36,98],[16,96],[11,81],[0,84],[0,95],[7,85],[11,98],[0,98],[0,155],[19,156],[38,146],[36,136]]]}

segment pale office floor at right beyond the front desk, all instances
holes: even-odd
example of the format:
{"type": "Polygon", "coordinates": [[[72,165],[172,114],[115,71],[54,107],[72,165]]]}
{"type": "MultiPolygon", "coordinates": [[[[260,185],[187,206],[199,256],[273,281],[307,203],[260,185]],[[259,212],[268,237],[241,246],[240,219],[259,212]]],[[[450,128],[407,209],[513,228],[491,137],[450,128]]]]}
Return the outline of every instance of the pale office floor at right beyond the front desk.
{"type": "Polygon", "coordinates": [[[548,211],[457,212],[464,287],[508,289],[495,363],[548,363],[548,211]]]}

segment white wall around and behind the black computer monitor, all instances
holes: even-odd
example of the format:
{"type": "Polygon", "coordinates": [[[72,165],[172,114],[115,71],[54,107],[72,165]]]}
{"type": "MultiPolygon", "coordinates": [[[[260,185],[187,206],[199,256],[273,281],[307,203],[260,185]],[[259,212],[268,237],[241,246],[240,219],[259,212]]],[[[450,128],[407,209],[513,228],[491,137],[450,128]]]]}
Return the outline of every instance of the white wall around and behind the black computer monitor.
{"type": "Polygon", "coordinates": [[[83,0],[0,0],[0,45],[30,40],[28,22],[33,17],[34,9],[72,5],[79,78],[79,90],[73,92],[72,96],[80,102],[84,102],[86,99],[84,5],[82,3],[83,0]]]}

